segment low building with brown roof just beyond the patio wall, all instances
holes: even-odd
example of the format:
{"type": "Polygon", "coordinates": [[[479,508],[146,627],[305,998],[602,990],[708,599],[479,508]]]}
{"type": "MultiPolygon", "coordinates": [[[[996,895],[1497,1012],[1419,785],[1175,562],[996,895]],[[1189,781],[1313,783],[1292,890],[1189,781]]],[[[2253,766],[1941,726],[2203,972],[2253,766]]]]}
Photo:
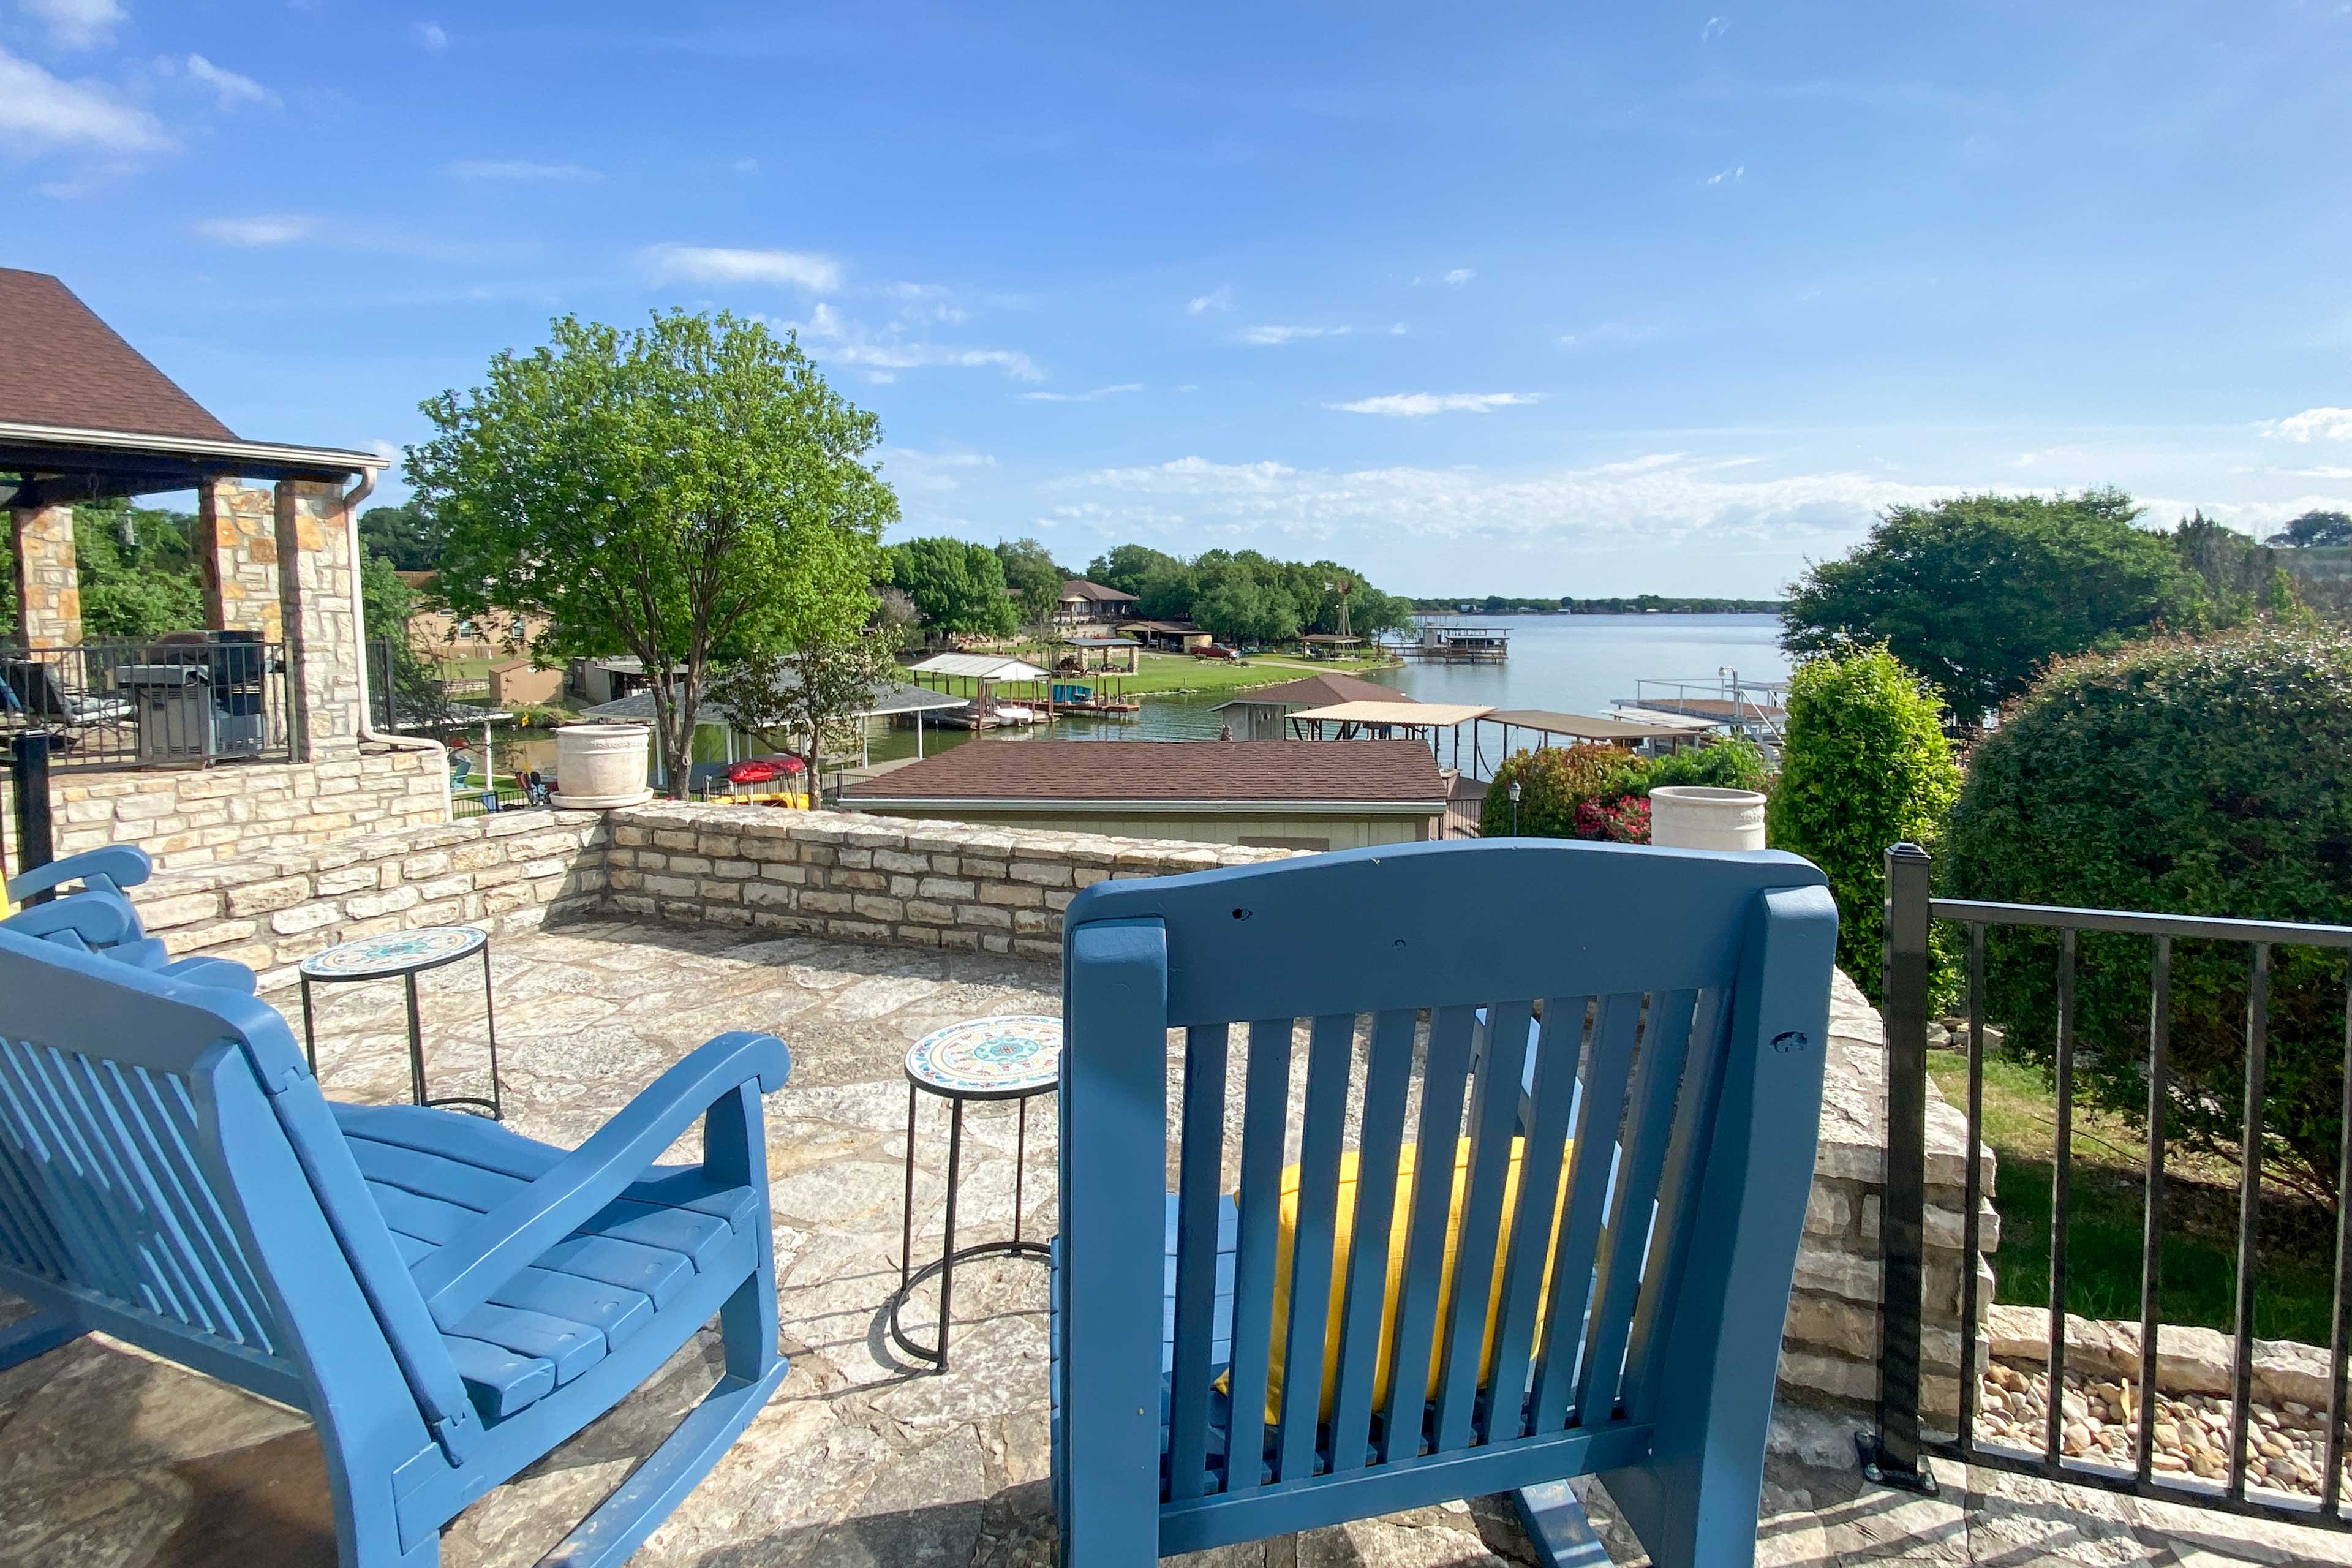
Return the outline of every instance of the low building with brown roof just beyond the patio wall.
{"type": "Polygon", "coordinates": [[[974,741],[842,788],[849,811],[1261,849],[1435,839],[1418,741],[974,741]]]}

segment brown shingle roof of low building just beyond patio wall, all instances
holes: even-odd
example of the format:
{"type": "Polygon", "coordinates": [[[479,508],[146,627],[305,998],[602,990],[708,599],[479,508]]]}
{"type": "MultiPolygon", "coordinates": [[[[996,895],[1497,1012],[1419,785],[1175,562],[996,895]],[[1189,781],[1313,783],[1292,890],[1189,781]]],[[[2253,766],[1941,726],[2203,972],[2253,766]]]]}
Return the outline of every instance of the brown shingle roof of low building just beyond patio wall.
{"type": "Polygon", "coordinates": [[[842,790],[842,804],[1367,802],[1435,804],[1446,783],[1418,741],[971,741],[842,790]]]}

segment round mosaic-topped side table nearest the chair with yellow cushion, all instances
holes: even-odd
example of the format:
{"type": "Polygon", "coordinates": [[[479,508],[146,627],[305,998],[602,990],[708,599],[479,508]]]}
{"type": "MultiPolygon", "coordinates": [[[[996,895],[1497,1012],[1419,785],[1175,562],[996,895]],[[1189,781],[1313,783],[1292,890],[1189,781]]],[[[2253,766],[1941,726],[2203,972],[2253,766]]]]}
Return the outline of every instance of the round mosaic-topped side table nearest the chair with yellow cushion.
{"type": "Polygon", "coordinates": [[[906,1225],[898,1234],[898,1288],[889,1298],[889,1338],[931,1371],[948,1371],[955,1265],[971,1258],[1044,1258],[1040,1241],[1021,1239],[1021,1178],[1028,1159],[1028,1103],[1061,1084],[1061,1018],[971,1018],[915,1041],[906,1053],[906,1225]],[[915,1267],[915,1095],[948,1103],[948,1227],[934,1262],[915,1267]],[[955,1187],[964,1166],[964,1105],[1014,1100],[1014,1234],[1007,1241],[955,1246],[955,1187]],[[938,1276],[938,1342],[920,1345],[898,1326],[915,1286],[938,1276]]]}

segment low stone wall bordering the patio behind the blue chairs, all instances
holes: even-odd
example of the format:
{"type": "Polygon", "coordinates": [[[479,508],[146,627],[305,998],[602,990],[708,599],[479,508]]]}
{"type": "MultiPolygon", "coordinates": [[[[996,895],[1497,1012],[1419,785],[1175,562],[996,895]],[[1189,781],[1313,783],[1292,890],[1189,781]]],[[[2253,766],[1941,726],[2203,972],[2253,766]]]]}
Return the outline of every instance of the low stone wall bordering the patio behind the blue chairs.
{"type": "MultiPolygon", "coordinates": [[[[628,914],[854,943],[1061,959],[1061,912],[1105,877],[1282,860],[1294,851],[969,827],[767,806],[654,802],[626,811],[513,811],[292,856],[158,875],[146,919],[179,952],[252,964],[263,987],[329,943],[423,924],[520,931],[628,914]]],[[[1879,1016],[1835,978],[1813,1197],[1780,1345],[1783,1392],[1877,1399],[1879,1201],[1886,1048],[1879,1016]]],[[[1959,1403],[1959,1241],[1966,1128],[1929,1086],[1924,1408],[1959,1403]]],[[[1983,1248],[1999,1244],[1992,1154],[1983,1248]]],[[[1980,1300],[1992,1272],[1976,1262],[1980,1300]]]]}

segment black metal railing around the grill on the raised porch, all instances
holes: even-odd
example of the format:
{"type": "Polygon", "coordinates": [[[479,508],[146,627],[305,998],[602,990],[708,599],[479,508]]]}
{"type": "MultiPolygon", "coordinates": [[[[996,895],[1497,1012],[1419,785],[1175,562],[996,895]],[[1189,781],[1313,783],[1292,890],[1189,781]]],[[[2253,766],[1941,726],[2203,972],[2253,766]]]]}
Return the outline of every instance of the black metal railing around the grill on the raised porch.
{"type": "Polygon", "coordinates": [[[287,762],[285,644],[172,632],[0,646],[0,733],[49,733],[52,769],[287,762]]]}

